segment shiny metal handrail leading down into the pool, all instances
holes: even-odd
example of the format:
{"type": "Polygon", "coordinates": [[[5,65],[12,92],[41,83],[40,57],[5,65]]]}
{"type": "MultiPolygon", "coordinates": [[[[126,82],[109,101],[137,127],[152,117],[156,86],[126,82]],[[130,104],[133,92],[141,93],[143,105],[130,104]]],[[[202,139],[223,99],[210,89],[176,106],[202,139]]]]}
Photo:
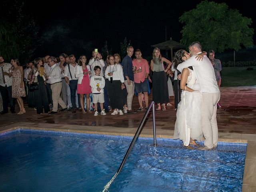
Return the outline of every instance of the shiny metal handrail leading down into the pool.
{"type": "Polygon", "coordinates": [[[139,128],[137,129],[137,131],[136,131],[136,133],[135,133],[135,135],[134,135],[134,137],[133,137],[133,139],[132,139],[132,142],[131,142],[131,144],[130,144],[130,146],[129,146],[129,148],[128,148],[128,150],[127,150],[125,156],[124,156],[124,159],[122,160],[122,163],[120,164],[120,166],[119,166],[119,168],[118,168],[116,174],[114,175],[114,177],[113,177],[113,178],[110,180],[110,182],[108,182],[108,184],[106,184],[106,186],[104,187],[103,192],[105,192],[105,191],[109,188],[110,184],[113,182],[113,180],[116,178],[116,176],[119,174],[119,172],[121,171],[122,167],[124,166],[124,162],[126,161],[127,156],[128,156],[128,154],[130,153],[130,150],[131,150],[132,147],[134,146],[134,142],[135,142],[135,140],[137,139],[137,137],[138,137],[138,135],[139,135],[139,133],[140,133],[140,130],[142,129],[142,126],[143,126],[143,124],[144,124],[144,122],[145,122],[145,120],[146,120],[146,117],[148,116],[148,113],[150,112],[150,109],[151,109],[151,108],[152,108],[152,112],[153,112],[154,146],[156,146],[156,115],[155,115],[155,103],[154,103],[154,101],[152,101],[152,102],[149,104],[148,109],[146,110],[146,113],[144,114],[144,117],[143,117],[142,121],[140,122],[140,126],[139,126],[139,128]]]}

